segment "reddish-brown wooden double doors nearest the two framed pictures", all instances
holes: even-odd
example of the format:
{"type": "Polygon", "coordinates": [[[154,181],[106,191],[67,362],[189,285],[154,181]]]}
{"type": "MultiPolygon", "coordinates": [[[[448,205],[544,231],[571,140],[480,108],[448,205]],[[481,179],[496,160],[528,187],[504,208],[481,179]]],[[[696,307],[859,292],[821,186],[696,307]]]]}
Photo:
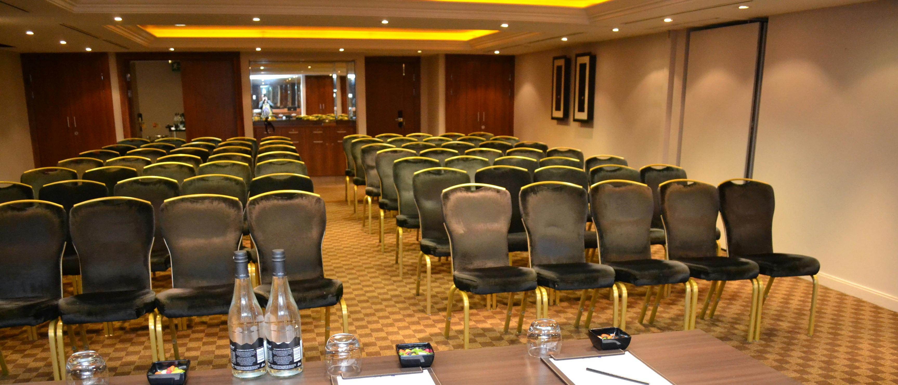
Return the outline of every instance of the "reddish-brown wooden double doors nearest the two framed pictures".
{"type": "Polygon", "coordinates": [[[514,135],[515,57],[446,55],[447,132],[514,135]]]}

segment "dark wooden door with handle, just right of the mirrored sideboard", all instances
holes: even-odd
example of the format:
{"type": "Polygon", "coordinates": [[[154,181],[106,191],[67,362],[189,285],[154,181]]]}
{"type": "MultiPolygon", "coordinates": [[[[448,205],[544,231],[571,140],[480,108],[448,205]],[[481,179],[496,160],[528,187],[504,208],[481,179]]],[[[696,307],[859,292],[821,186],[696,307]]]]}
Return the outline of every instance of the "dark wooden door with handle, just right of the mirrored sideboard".
{"type": "Polygon", "coordinates": [[[365,57],[367,134],[421,132],[420,84],[420,57],[365,57]]]}

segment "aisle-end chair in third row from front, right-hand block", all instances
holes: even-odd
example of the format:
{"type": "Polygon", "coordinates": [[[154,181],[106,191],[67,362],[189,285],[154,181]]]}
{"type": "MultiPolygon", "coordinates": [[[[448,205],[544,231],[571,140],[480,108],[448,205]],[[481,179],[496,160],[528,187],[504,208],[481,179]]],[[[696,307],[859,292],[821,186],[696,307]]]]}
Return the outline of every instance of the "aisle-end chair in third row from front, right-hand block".
{"type": "MultiPolygon", "coordinates": [[[[399,264],[399,277],[403,272],[403,229],[420,229],[418,218],[418,206],[415,206],[415,189],[412,186],[412,177],[416,171],[439,167],[436,159],[423,156],[411,156],[393,162],[393,184],[396,186],[397,199],[399,201],[399,214],[396,215],[396,260],[399,264]]],[[[420,235],[420,232],[418,232],[420,235]]]]}

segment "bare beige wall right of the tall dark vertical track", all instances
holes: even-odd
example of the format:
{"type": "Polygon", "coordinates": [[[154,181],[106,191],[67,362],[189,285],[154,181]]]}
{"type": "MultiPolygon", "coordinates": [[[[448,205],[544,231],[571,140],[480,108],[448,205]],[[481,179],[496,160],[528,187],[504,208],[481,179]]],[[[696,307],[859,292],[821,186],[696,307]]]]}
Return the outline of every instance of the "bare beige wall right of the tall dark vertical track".
{"type": "Polygon", "coordinates": [[[754,176],[774,245],[821,282],[898,311],[898,3],[770,17],[754,176]]]}

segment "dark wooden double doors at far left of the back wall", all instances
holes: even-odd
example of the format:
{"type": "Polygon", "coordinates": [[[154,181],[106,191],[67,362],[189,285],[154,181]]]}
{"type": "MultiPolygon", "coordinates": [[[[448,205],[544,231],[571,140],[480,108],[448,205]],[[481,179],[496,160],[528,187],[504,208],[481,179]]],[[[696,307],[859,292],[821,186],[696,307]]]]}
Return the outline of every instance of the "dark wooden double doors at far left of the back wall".
{"type": "Polygon", "coordinates": [[[22,75],[35,166],[115,144],[106,54],[22,54],[22,75]]]}

